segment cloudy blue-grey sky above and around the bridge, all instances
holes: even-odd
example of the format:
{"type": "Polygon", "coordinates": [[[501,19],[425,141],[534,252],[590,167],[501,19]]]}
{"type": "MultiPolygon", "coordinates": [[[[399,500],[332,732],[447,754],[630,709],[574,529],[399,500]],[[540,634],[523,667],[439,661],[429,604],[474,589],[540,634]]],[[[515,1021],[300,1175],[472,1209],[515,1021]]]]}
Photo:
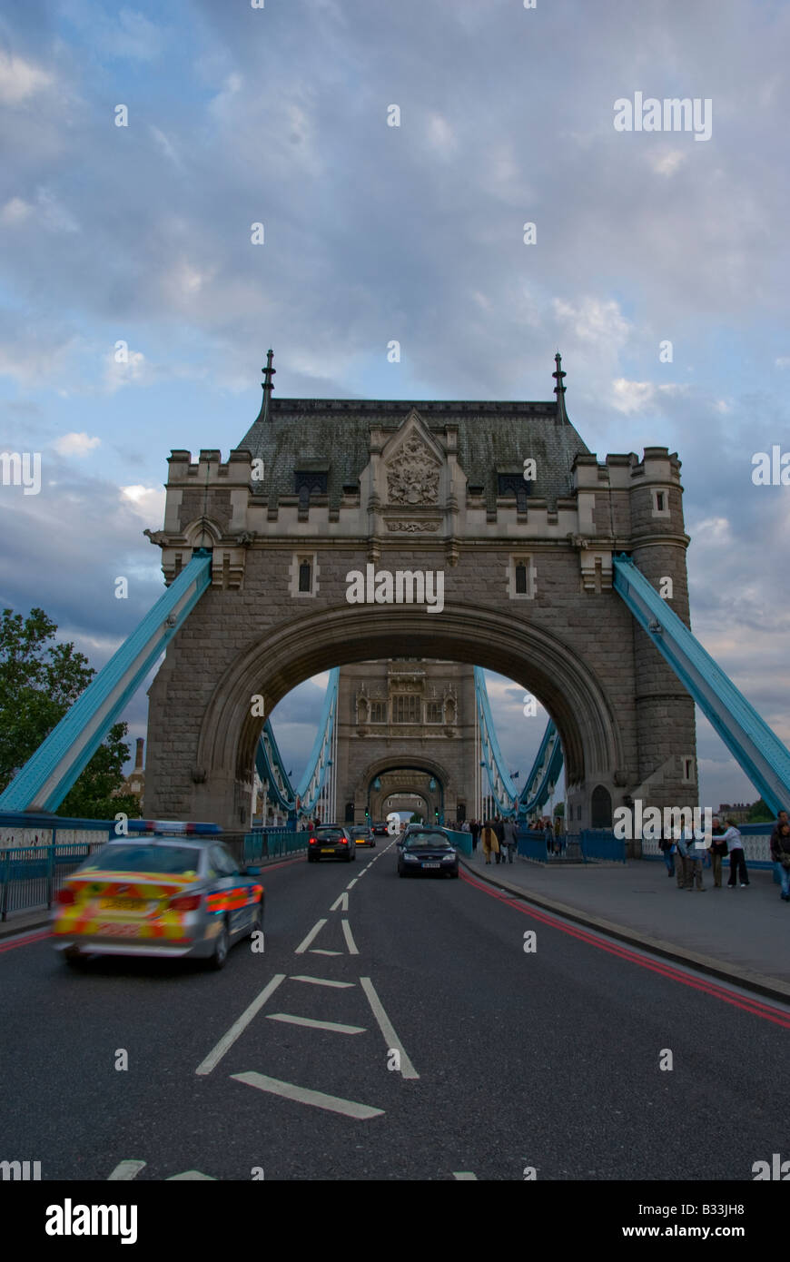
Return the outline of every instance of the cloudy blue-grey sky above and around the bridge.
{"type": "MultiPolygon", "coordinates": [[[[0,486],[0,604],[101,666],[162,589],[170,448],[227,457],[269,346],[280,396],[404,399],[551,398],[559,346],[601,459],[678,451],[694,631],[789,741],[790,488],[751,477],[790,451],[789,42],[781,0],[6,8],[0,452],[42,490],[0,486]],[[616,130],[637,92],[709,139],[616,130]]],[[[297,772],[317,690],[275,712],[297,772]]],[[[524,769],[541,724],[491,694],[524,769]]],[[[703,801],[753,799],[698,718],[703,801]]]]}

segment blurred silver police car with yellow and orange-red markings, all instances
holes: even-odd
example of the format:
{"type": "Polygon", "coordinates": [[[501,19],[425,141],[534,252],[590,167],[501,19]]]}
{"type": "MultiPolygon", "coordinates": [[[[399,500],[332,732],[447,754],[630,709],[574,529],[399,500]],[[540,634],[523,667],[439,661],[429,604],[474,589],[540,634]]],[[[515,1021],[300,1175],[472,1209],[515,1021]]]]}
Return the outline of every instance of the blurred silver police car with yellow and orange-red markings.
{"type": "Polygon", "coordinates": [[[68,877],[52,914],[56,948],[90,954],[193,955],[221,968],[262,929],[259,868],[239,868],[216,839],[119,838],[68,877]]]}

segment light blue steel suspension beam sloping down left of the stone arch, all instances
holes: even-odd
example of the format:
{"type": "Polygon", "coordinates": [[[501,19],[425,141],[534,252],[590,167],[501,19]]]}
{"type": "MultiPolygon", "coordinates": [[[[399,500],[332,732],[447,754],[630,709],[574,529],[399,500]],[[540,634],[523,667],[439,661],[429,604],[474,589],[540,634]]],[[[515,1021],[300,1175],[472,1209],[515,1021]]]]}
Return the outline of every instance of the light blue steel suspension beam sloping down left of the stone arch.
{"type": "Polygon", "coordinates": [[[211,551],[196,548],[189,564],[0,794],[0,810],[57,810],[209,583],[211,551]]]}

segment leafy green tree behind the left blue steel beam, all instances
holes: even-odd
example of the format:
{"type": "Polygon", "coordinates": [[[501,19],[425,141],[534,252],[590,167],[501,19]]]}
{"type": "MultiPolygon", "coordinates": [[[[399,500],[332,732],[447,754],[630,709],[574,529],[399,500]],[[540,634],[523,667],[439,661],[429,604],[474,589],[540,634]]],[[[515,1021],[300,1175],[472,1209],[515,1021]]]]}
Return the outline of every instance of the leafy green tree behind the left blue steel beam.
{"type": "MultiPolygon", "coordinates": [[[[93,668],[73,644],[54,644],[57,625],[43,610],[27,618],[4,610],[0,618],[0,793],[85,692],[93,668]]],[[[59,815],[138,817],[136,798],[111,796],[124,780],[126,724],[116,723],[58,808],[59,815]]]]}

